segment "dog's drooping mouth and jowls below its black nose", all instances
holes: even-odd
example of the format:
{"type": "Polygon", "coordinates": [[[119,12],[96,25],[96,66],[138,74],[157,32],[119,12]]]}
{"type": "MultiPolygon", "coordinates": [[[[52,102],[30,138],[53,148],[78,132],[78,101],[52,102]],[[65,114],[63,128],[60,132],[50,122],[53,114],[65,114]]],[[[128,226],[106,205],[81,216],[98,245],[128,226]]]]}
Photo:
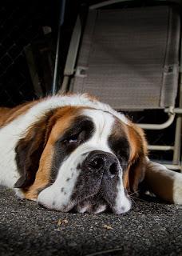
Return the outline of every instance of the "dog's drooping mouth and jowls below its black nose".
{"type": "MultiPolygon", "coordinates": [[[[53,185],[54,186],[54,185],[53,185]]],[[[124,190],[120,170],[108,174],[107,170],[93,172],[82,168],[72,193],[60,186],[49,186],[38,196],[38,203],[62,212],[124,214],[131,209],[129,195],[124,190]],[[67,196],[69,194],[69,196],[67,196]]]]}

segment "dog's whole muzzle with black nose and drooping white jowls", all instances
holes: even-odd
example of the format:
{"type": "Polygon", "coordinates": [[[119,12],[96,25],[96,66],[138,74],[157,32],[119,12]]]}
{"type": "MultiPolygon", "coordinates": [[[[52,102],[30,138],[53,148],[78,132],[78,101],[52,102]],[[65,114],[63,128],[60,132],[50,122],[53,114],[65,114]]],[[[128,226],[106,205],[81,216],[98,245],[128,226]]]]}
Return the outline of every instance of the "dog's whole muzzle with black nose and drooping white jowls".
{"type": "Polygon", "coordinates": [[[97,214],[111,210],[122,214],[130,210],[131,202],[124,190],[117,157],[101,150],[93,150],[81,157],[81,162],[77,161],[73,169],[77,174],[75,182],[70,174],[66,176],[65,172],[61,176],[60,171],[56,182],[38,195],[38,203],[63,212],[73,210],[97,214]]]}

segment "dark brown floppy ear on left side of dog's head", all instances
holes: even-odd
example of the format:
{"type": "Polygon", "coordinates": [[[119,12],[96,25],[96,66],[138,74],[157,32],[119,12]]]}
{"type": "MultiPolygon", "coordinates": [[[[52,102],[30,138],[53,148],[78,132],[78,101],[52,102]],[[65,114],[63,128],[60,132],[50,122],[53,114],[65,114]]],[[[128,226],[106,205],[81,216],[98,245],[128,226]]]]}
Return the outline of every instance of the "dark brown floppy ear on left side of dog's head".
{"type": "Polygon", "coordinates": [[[15,160],[18,166],[20,178],[14,184],[15,188],[24,188],[34,183],[38,171],[39,160],[45,148],[49,135],[48,125],[51,113],[47,114],[40,121],[31,126],[25,138],[21,138],[15,148],[15,160]]]}

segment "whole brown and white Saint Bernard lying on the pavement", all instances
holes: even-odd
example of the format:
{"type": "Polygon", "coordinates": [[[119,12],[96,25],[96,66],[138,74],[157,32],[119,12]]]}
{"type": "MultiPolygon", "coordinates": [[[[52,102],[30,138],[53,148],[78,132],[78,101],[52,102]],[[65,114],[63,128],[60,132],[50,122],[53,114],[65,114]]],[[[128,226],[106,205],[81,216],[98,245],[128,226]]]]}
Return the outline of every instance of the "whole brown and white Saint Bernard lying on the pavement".
{"type": "Polygon", "coordinates": [[[143,130],[87,94],[0,108],[0,184],[62,212],[122,214],[144,190],[182,204],[182,174],[151,162],[143,130]]]}

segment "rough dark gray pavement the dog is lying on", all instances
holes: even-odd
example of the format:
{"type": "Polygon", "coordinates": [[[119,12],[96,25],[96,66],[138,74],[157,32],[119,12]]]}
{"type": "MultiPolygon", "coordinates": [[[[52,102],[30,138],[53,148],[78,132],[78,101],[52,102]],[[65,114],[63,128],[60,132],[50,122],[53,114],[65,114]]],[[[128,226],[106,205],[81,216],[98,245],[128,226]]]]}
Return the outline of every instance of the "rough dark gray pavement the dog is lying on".
{"type": "Polygon", "coordinates": [[[138,201],[127,214],[63,214],[0,187],[0,255],[182,255],[182,208],[138,201]]]}

